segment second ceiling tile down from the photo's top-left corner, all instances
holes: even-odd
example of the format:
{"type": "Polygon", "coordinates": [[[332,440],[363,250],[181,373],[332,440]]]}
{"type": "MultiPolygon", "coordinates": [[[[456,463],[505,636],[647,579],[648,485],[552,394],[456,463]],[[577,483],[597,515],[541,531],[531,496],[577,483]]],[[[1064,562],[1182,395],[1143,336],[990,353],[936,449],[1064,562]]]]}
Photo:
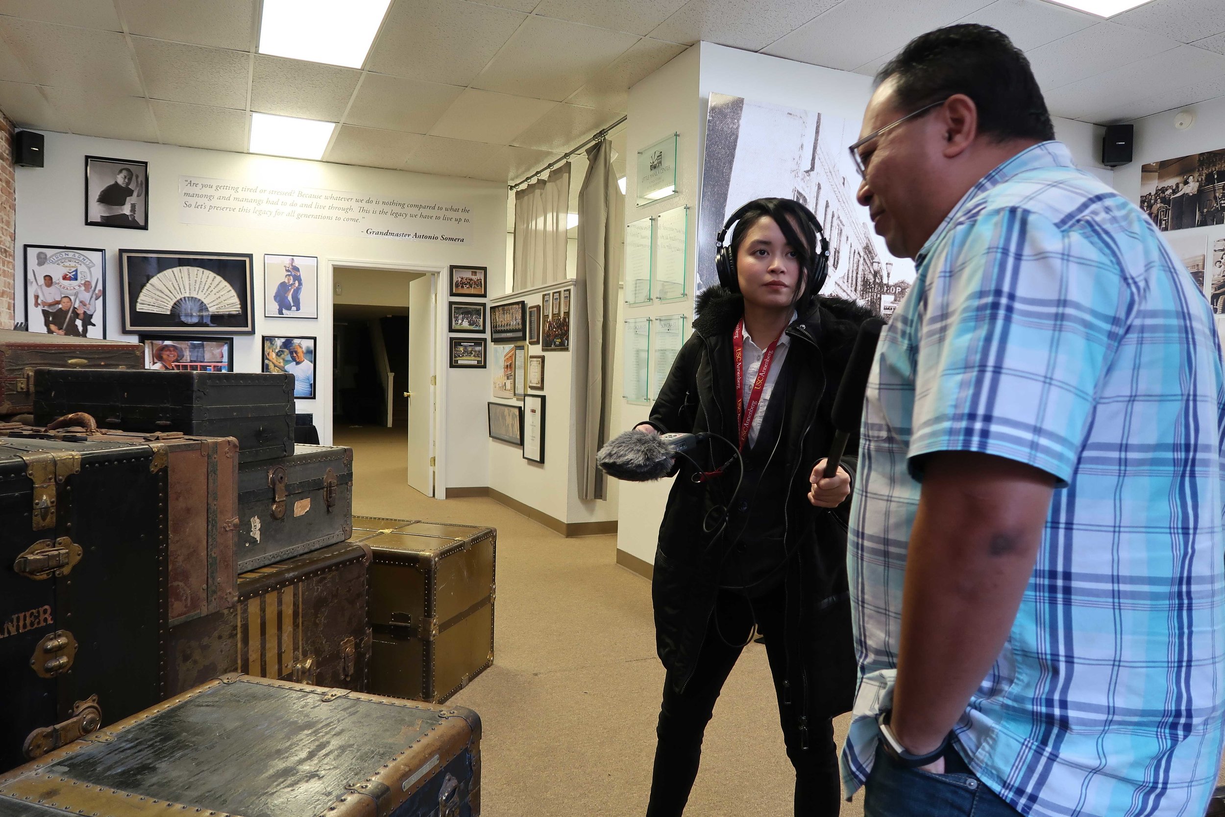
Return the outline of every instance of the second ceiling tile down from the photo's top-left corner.
{"type": "Polygon", "coordinates": [[[0,17],[0,37],[40,85],[113,96],[143,93],[123,34],[0,17]]]}

